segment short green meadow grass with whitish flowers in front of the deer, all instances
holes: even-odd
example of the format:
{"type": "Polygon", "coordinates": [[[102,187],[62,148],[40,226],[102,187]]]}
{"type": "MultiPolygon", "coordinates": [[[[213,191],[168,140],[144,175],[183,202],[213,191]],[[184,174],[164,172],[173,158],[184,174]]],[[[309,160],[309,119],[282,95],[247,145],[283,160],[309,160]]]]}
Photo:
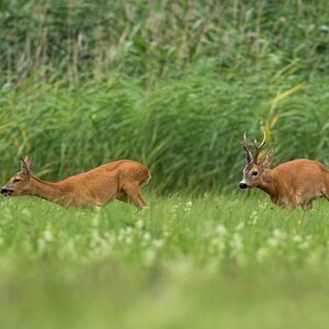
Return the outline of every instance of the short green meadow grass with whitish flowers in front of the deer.
{"type": "Polygon", "coordinates": [[[1,328],[327,328],[328,203],[147,195],[66,211],[1,198],[1,328]]]}

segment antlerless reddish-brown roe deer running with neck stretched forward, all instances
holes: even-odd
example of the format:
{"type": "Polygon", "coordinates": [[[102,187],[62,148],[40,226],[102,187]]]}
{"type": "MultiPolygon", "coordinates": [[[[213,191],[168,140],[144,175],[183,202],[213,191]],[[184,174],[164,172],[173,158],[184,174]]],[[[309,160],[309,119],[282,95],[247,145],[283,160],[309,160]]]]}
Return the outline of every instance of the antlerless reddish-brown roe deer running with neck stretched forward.
{"type": "Polygon", "coordinates": [[[140,186],[150,180],[150,171],[139,162],[120,160],[50,183],[31,173],[31,160],[21,159],[21,171],[1,189],[4,196],[34,195],[65,207],[102,206],[117,198],[141,208],[140,186]]]}

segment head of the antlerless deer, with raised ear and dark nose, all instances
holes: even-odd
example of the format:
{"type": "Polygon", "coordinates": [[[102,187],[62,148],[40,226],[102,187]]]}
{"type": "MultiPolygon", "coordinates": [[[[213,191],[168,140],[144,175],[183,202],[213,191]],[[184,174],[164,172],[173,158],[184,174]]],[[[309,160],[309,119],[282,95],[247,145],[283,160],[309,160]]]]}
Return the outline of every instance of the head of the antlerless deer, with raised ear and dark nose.
{"type": "Polygon", "coordinates": [[[21,171],[15,173],[3,188],[0,193],[3,196],[19,196],[29,194],[31,180],[31,160],[29,157],[21,159],[21,171]]]}

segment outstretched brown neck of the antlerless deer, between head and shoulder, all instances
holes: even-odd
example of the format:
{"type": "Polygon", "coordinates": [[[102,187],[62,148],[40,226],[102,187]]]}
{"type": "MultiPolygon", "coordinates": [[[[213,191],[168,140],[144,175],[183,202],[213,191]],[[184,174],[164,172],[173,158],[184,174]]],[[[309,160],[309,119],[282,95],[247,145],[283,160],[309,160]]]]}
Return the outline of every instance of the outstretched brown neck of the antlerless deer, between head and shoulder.
{"type": "Polygon", "coordinates": [[[63,204],[66,192],[59,183],[49,183],[35,177],[31,177],[30,195],[63,204]]]}

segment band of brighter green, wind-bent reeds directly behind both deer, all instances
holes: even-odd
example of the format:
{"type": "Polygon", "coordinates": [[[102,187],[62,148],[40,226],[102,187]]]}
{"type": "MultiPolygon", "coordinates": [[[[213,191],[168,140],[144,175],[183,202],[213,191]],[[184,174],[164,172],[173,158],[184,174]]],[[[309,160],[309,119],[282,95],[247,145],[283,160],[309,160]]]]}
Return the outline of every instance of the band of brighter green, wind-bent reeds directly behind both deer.
{"type": "Polygon", "coordinates": [[[240,179],[243,132],[253,139],[266,131],[274,164],[309,157],[328,166],[327,97],[319,78],[223,76],[215,61],[151,90],[122,75],[70,86],[34,81],[0,93],[0,175],[25,154],[47,179],[132,158],[150,167],[159,191],[227,191],[240,179]]]}

